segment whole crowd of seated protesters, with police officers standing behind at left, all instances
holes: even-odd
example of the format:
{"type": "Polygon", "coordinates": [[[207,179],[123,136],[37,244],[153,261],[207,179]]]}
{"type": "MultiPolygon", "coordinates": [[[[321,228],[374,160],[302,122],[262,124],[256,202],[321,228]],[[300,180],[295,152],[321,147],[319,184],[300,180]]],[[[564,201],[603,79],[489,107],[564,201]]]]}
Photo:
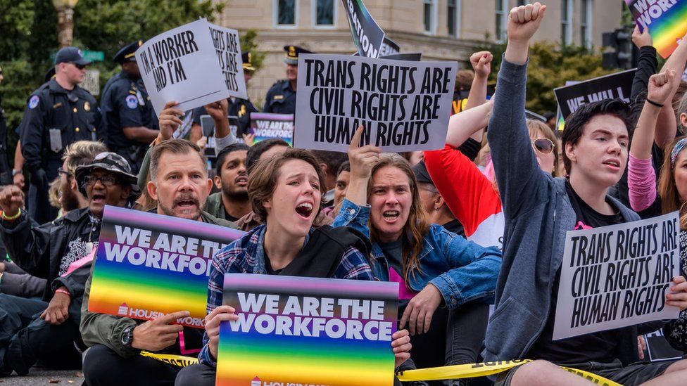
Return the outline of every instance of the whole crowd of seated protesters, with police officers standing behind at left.
{"type": "MultiPolygon", "coordinates": [[[[220,323],[238,318],[222,305],[224,274],[248,273],[398,283],[398,331],[389,347],[396,371],[532,359],[491,381],[589,383],[565,365],[624,385],[682,385],[687,360],[643,361],[641,335],[662,329],[687,354],[687,37],[659,69],[648,32],[636,30],[641,57],[630,102],[583,105],[561,133],[525,116],[527,72],[536,71],[528,68],[528,46],[545,13],[538,3],[510,11],[494,95],[487,96],[493,56],[474,53],[471,84],[460,73],[467,103],[450,117],[446,146],[408,154],[360,146],[365,127],[346,154],[280,139],[253,143],[245,132],[232,134],[227,121],[232,108],[257,111],[244,100],[195,114],[172,101],[151,118],[130,60],[140,42],[115,56],[122,74],[103,98],[123,104],[103,109],[109,123],[102,123],[96,101],[77,86],[86,62],[60,51],[55,77],[27,100],[20,125],[19,151],[32,153],[25,157],[32,198],[22,178],[0,191],[7,255],[0,262],[0,376],[72,359],[92,386],[214,385],[220,323]],[[67,130],[64,146],[38,146],[60,135],[38,126],[41,114],[70,101],[81,129],[67,130]],[[116,126],[125,129],[107,136],[117,111],[127,123],[116,126]],[[198,114],[214,122],[210,169],[198,114]],[[177,138],[184,127],[192,141],[177,138]],[[36,197],[49,191],[53,210],[37,207],[43,201],[36,197]],[[205,330],[172,323],[189,315],[184,310],[151,321],[89,311],[105,205],[247,232],[213,257],[205,330]],[[553,340],[565,233],[674,211],[682,276],[673,278],[666,302],[683,310],[679,319],[553,340]],[[180,368],[142,350],[194,352],[199,363],[180,368]]],[[[287,50],[284,90],[295,79],[297,53],[287,50]]],[[[277,102],[272,95],[270,109],[286,105],[277,102]]]]}

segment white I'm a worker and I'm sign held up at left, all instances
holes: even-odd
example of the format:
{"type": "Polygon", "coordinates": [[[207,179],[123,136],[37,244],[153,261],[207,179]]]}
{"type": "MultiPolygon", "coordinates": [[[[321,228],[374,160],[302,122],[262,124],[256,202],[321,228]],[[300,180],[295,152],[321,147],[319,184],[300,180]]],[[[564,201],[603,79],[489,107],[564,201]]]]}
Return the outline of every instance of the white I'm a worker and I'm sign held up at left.
{"type": "Polygon", "coordinates": [[[217,57],[205,19],[146,41],[136,60],[155,112],[160,115],[168,101],[179,102],[177,108],[185,111],[228,98],[217,57]]]}

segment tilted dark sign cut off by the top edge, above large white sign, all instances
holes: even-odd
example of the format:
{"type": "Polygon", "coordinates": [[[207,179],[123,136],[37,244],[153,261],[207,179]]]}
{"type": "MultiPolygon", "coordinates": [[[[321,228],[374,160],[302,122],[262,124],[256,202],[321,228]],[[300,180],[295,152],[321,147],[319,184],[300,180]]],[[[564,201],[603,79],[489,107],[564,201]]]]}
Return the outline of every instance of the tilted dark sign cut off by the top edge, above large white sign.
{"type": "Polygon", "coordinates": [[[384,43],[384,30],[374,21],[363,0],[341,1],[348,16],[348,25],[351,25],[351,34],[358,53],[367,58],[378,58],[384,43]]]}

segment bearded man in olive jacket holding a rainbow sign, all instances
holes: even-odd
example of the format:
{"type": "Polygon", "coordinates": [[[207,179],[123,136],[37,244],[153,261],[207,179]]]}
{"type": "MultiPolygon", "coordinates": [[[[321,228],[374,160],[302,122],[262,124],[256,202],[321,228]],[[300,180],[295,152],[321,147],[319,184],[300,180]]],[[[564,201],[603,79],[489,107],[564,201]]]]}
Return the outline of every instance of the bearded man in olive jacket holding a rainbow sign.
{"type": "MultiPolygon", "coordinates": [[[[170,124],[173,124],[172,120],[160,120],[160,129],[167,129],[170,124]]],[[[150,162],[151,181],[147,188],[151,198],[156,200],[157,207],[151,212],[236,229],[232,222],[201,210],[213,184],[208,179],[206,165],[205,155],[191,141],[168,139],[155,146],[150,162]]],[[[170,324],[189,316],[189,312],[179,310],[145,322],[97,314],[88,311],[90,288],[91,278],[86,283],[80,326],[84,342],[91,347],[84,358],[87,384],[172,385],[178,367],[140,356],[139,353],[146,350],[179,354],[182,348],[194,349],[194,342],[199,349],[201,330],[170,324]],[[183,335],[177,334],[182,331],[183,335]],[[179,336],[183,340],[178,340],[179,336]]]]}

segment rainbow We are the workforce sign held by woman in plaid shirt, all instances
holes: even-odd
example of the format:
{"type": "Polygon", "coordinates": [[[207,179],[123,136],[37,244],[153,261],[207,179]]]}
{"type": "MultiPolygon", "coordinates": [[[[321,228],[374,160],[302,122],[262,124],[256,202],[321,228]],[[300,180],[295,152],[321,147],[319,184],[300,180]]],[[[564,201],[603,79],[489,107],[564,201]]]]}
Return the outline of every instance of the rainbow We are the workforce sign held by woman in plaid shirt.
{"type": "Polygon", "coordinates": [[[393,385],[398,283],[226,274],[217,386],[393,385]]]}

